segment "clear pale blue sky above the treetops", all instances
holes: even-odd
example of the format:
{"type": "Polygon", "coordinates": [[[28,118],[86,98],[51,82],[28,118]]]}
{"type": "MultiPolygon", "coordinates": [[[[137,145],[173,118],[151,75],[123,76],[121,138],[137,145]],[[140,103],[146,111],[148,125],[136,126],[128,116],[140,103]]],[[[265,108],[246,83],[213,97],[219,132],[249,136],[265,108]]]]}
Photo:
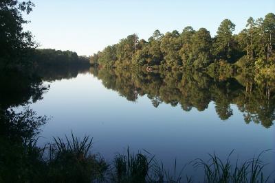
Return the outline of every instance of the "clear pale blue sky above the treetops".
{"type": "Polygon", "coordinates": [[[41,48],[91,55],[121,38],[136,33],[147,39],[155,29],[206,27],[212,36],[223,19],[236,24],[236,33],[254,19],[275,12],[275,0],[156,1],[156,0],[32,0],[36,7],[25,25],[41,48]]]}

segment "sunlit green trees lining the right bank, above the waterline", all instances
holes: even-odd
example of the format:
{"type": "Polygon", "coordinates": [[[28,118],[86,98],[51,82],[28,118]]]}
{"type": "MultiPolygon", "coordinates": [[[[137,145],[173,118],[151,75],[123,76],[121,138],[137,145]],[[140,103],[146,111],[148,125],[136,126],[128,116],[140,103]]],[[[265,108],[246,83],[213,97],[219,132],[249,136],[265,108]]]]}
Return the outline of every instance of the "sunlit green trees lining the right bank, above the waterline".
{"type": "Polygon", "coordinates": [[[156,30],[148,41],[132,34],[98,51],[90,62],[120,68],[195,69],[212,74],[256,72],[274,78],[275,15],[269,13],[256,20],[250,17],[239,34],[233,34],[234,29],[234,23],[225,19],[214,38],[207,29],[196,31],[190,26],[181,33],[156,30]]]}

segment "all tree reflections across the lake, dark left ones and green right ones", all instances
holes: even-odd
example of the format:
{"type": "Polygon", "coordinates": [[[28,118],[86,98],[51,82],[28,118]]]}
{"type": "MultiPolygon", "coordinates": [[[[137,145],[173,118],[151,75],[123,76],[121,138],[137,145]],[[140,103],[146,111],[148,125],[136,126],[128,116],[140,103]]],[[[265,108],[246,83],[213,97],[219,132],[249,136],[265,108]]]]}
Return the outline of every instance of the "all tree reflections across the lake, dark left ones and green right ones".
{"type": "Polygon", "coordinates": [[[87,66],[41,68],[32,77],[1,73],[1,108],[35,103],[43,99],[43,93],[50,86],[43,85],[42,81],[71,79],[78,73],[88,71],[102,80],[106,88],[118,91],[129,101],[137,101],[138,97],[146,95],[155,108],[161,103],[168,103],[171,106],[179,105],[184,111],[192,108],[203,111],[214,101],[215,111],[223,121],[234,114],[231,104],[236,104],[243,113],[245,123],[253,121],[270,127],[275,119],[273,81],[267,82],[258,78],[259,81],[255,82],[252,77],[245,75],[219,80],[198,72],[146,72],[95,67],[88,69],[87,66]]]}

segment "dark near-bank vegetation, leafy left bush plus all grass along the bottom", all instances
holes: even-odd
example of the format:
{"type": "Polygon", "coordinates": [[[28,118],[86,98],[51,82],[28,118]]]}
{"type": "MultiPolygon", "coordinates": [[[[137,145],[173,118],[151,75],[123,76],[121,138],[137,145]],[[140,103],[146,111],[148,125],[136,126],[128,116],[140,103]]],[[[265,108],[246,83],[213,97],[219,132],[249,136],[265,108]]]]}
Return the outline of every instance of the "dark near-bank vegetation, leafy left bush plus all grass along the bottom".
{"type": "Polygon", "coordinates": [[[0,182],[196,182],[184,172],[187,165],[202,171],[201,181],[206,183],[275,182],[264,174],[267,164],[261,159],[266,151],[241,163],[231,161],[233,151],[226,160],[214,153],[209,160],[197,158],[183,167],[175,160],[170,171],[148,151],[135,154],[129,147],[108,164],[92,153],[93,138],[77,138],[73,133],[65,139],[56,137],[41,148],[35,136],[46,120],[28,108],[19,114],[0,110],[0,182]]]}

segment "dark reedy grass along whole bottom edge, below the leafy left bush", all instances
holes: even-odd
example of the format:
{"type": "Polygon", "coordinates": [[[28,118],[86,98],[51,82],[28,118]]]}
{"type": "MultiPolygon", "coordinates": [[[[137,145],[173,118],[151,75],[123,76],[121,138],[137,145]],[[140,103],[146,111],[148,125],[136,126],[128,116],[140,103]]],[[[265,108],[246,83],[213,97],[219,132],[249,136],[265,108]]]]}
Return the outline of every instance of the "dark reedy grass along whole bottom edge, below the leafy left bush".
{"type": "MultiPolygon", "coordinates": [[[[117,154],[114,160],[108,164],[104,158],[98,154],[93,154],[93,138],[85,136],[77,138],[72,133],[65,140],[54,138],[52,144],[43,148],[36,146],[36,141],[22,145],[23,150],[19,151],[23,156],[19,170],[27,169],[20,179],[12,176],[13,169],[0,167],[0,181],[8,182],[133,182],[133,183],[181,183],[196,182],[194,178],[186,175],[184,169],[187,165],[195,171],[203,171],[206,183],[235,183],[250,182],[263,183],[271,182],[270,176],[265,177],[264,170],[266,164],[261,159],[266,151],[250,160],[239,163],[232,162],[230,152],[226,160],[221,160],[217,154],[209,154],[209,160],[197,158],[183,167],[178,166],[177,160],[174,162],[172,171],[164,168],[163,162],[160,164],[148,151],[132,153],[127,148],[126,154],[117,154]],[[27,165],[26,165],[27,164],[27,165]],[[3,175],[2,173],[7,173],[3,175]]],[[[17,147],[18,148],[18,147],[17,147]]],[[[12,149],[5,151],[7,154],[16,154],[12,149]]],[[[18,156],[18,155],[12,155],[18,156]]],[[[1,157],[0,157],[1,158],[1,157]]],[[[12,157],[10,162],[12,162],[12,157]]],[[[0,164],[2,164],[0,159],[0,164]]],[[[20,174],[21,171],[14,171],[20,174]]],[[[273,180],[274,182],[274,180],[273,180]]]]}

